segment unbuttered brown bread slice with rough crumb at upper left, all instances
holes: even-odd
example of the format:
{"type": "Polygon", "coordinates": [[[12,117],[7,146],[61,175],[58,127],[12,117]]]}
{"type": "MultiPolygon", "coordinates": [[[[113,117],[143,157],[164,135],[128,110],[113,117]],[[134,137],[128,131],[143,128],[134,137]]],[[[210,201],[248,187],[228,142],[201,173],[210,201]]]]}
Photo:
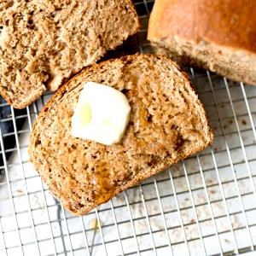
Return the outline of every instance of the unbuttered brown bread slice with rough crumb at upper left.
{"type": "Polygon", "coordinates": [[[0,3],[0,94],[25,108],[138,30],[131,0],[0,3]]]}

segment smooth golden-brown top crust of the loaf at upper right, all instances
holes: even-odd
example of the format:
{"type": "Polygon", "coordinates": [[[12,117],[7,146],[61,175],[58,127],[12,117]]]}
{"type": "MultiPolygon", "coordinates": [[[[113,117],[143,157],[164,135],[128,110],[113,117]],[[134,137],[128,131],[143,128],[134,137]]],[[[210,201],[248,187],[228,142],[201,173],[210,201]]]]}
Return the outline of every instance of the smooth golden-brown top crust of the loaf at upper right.
{"type": "Polygon", "coordinates": [[[256,53],[254,0],[156,0],[148,38],[201,40],[256,53]]]}

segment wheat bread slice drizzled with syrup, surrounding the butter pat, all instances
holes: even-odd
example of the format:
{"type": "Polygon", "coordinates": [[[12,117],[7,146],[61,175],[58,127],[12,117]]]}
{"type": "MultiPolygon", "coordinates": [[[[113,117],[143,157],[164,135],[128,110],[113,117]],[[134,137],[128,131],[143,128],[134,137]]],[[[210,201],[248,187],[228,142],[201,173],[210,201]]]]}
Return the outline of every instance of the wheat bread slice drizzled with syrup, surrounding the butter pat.
{"type": "Polygon", "coordinates": [[[33,125],[29,154],[49,190],[82,215],[144,178],[212,143],[212,131],[187,75],[170,59],[128,55],[84,69],[47,103],[33,125]],[[119,143],[71,136],[86,81],[125,93],[131,119],[119,143]]]}

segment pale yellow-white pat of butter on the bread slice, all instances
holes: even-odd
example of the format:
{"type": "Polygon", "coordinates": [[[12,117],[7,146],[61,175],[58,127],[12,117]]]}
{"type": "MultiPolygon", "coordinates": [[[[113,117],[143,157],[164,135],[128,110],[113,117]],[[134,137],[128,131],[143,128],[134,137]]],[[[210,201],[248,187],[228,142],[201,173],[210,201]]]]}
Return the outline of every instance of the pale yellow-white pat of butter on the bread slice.
{"type": "Polygon", "coordinates": [[[130,113],[129,102],[119,90],[87,82],[73,113],[71,134],[105,145],[119,143],[130,113]]]}

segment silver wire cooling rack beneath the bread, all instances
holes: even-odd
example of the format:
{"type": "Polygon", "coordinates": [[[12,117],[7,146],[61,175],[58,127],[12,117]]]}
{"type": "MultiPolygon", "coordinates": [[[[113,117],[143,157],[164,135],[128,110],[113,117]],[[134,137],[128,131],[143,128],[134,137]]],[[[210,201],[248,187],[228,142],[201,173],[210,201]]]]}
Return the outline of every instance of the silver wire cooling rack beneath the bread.
{"type": "MultiPolygon", "coordinates": [[[[134,1],[141,31],[110,55],[152,51],[153,1],[134,1]]],[[[64,211],[29,163],[32,122],[44,95],[0,119],[0,255],[212,255],[256,246],[256,87],[188,68],[212,125],[212,147],[98,207],[64,211]],[[24,125],[20,126],[20,122],[24,125]],[[12,126],[5,132],[3,124],[12,126]],[[14,141],[11,145],[10,140],[14,141]]]]}

